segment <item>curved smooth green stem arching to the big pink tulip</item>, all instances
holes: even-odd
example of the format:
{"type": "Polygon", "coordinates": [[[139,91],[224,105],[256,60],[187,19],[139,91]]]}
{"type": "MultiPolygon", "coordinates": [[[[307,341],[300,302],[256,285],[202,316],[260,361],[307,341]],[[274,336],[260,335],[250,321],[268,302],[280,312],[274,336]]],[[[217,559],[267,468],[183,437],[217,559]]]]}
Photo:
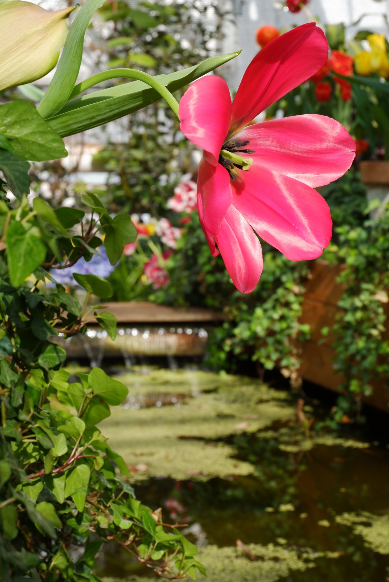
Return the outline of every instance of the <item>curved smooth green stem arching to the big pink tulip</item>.
{"type": "Polygon", "coordinates": [[[173,95],[170,93],[167,87],[162,85],[160,81],[157,81],[155,77],[152,77],[150,74],[144,73],[143,71],[139,71],[137,69],[112,69],[110,71],[104,71],[102,73],[94,74],[93,77],[89,77],[85,81],[82,81],[78,85],[73,88],[72,93],[69,95],[70,99],[74,99],[80,93],[83,93],[90,87],[94,87],[97,83],[101,83],[102,81],[107,81],[108,79],[136,79],[138,81],[143,81],[155,91],[161,95],[161,97],[167,102],[169,107],[178,117],[178,101],[175,100],[173,95]]]}

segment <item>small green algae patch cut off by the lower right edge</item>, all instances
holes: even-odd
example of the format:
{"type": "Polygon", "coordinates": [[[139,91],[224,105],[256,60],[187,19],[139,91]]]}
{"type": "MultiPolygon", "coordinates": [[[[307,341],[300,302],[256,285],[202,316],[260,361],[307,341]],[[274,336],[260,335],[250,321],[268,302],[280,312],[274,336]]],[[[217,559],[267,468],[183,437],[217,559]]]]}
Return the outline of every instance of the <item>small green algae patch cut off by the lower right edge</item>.
{"type": "Polygon", "coordinates": [[[335,517],[335,521],[342,526],[352,527],[353,533],[361,535],[365,545],[374,552],[389,554],[389,515],[342,513],[335,517]]]}

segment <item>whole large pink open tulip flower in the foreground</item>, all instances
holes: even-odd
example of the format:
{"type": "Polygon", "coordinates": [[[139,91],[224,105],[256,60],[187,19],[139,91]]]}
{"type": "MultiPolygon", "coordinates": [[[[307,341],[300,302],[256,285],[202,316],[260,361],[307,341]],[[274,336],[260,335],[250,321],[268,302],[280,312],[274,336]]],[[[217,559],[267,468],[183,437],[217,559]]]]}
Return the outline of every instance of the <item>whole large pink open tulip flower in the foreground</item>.
{"type": "Polygon", "coordinates": [[[247,126],[327,58],[323,31],[303,24],[261,49],[232,104],[227,83],[217,76],[195,81],[179,104],[183,134],[203,148],[201,227],[242,293],[252,292],[263,268],[256,233],[292,261],[319,257],[330,242],[330,209],[314,188],[351,166],[351,136],[334,119],[313,114],[247,126]]]}

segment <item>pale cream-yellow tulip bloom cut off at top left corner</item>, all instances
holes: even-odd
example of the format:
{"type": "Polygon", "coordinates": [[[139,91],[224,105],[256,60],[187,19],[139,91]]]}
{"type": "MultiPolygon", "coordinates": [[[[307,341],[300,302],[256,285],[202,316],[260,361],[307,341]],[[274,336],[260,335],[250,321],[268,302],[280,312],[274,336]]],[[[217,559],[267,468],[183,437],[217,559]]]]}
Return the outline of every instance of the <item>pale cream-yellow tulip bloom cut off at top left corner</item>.
{"type": "Polygon", "coordinates": [[[72,10],[49,12],[31,2],[0,0],[0,91],[31,83],[55,67],[72,10]]]}

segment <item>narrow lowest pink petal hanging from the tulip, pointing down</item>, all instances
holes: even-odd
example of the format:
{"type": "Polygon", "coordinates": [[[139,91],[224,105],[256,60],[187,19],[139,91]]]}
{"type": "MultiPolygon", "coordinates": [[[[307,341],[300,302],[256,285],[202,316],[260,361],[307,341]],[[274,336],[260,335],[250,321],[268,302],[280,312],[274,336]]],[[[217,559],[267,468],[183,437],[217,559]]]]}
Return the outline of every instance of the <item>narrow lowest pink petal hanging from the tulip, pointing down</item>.
{"type": "Polygon", "coordinates": [[[263,268],[261,243],[234,205],[228,208],[215,239],[236,289],[251,293],[263,268]]]}

